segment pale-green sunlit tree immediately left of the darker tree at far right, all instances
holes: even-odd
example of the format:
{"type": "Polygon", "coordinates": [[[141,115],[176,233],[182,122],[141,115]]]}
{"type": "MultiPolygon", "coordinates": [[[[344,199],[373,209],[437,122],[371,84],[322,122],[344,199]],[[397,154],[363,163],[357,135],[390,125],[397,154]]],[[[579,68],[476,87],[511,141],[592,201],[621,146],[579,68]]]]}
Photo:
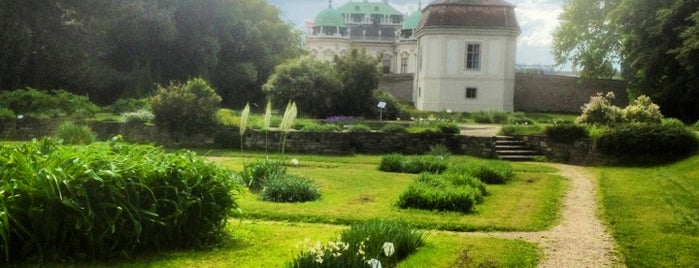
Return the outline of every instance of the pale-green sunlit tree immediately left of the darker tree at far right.
{"type": "Polygon", "coordinates": [[[619,0],[566,1],[553,32],[553,55],[557,65],[570,62],[582,68],[580,76],[612,78],[619,62],[621,38],[609,14],[619,0]]]}

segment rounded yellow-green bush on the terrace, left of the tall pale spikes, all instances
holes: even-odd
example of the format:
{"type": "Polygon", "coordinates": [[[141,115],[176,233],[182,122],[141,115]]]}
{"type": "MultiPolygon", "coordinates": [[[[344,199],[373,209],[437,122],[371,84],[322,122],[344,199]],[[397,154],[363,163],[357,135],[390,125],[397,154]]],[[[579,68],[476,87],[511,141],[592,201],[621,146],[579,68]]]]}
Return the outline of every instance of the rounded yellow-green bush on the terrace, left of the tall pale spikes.
{"type": "Polygon", "coordinates": [[[221,97],[201,78],[186,84],[158,86],[151,100],[155,124],[171,131],[193,132],[214,124],[221,97]]]}

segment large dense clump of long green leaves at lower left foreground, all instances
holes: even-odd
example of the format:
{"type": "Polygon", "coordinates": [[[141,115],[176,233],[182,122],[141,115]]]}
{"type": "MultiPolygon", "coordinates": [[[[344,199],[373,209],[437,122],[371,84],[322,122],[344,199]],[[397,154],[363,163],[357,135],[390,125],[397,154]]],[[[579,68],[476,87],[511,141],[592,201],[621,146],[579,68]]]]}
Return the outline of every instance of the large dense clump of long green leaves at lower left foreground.
{"type": "Polygon", "coordinates": [[[6,260],[105,259],[211,245],[237,208],[231,173],[194,153],[118,139],[0,147],[6,260]],[[11,219],[11,220],[10,220],[11,219]]]}

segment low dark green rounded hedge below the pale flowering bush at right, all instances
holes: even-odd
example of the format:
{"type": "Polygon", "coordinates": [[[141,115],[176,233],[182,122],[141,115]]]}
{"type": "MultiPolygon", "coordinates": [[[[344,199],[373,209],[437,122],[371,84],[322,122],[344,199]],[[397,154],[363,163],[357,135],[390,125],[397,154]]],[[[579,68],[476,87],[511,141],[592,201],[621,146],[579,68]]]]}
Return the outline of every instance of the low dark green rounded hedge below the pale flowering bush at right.
{"type": "Polygon", "coordinates": [[[597,139],[597,148],[628,160],[671,160],[696,152],[692,131],[676,125],[626,124],[609,129],[597,139]]]}

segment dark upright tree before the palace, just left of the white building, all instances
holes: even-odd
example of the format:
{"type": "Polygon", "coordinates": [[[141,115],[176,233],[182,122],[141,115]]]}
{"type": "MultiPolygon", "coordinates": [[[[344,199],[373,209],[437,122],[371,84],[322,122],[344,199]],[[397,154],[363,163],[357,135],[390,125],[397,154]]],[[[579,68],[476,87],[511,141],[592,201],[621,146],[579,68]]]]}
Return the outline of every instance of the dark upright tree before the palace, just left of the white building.
{"type": "Polygon", "coordinates": [[[370,116],[374,111],[372,92],[381,79],[380,59],[366,51],[352,50],[342,57],[335,57],[335,70],[342,81],[342,92],[335,103],[337,114],[370,116]]]}

